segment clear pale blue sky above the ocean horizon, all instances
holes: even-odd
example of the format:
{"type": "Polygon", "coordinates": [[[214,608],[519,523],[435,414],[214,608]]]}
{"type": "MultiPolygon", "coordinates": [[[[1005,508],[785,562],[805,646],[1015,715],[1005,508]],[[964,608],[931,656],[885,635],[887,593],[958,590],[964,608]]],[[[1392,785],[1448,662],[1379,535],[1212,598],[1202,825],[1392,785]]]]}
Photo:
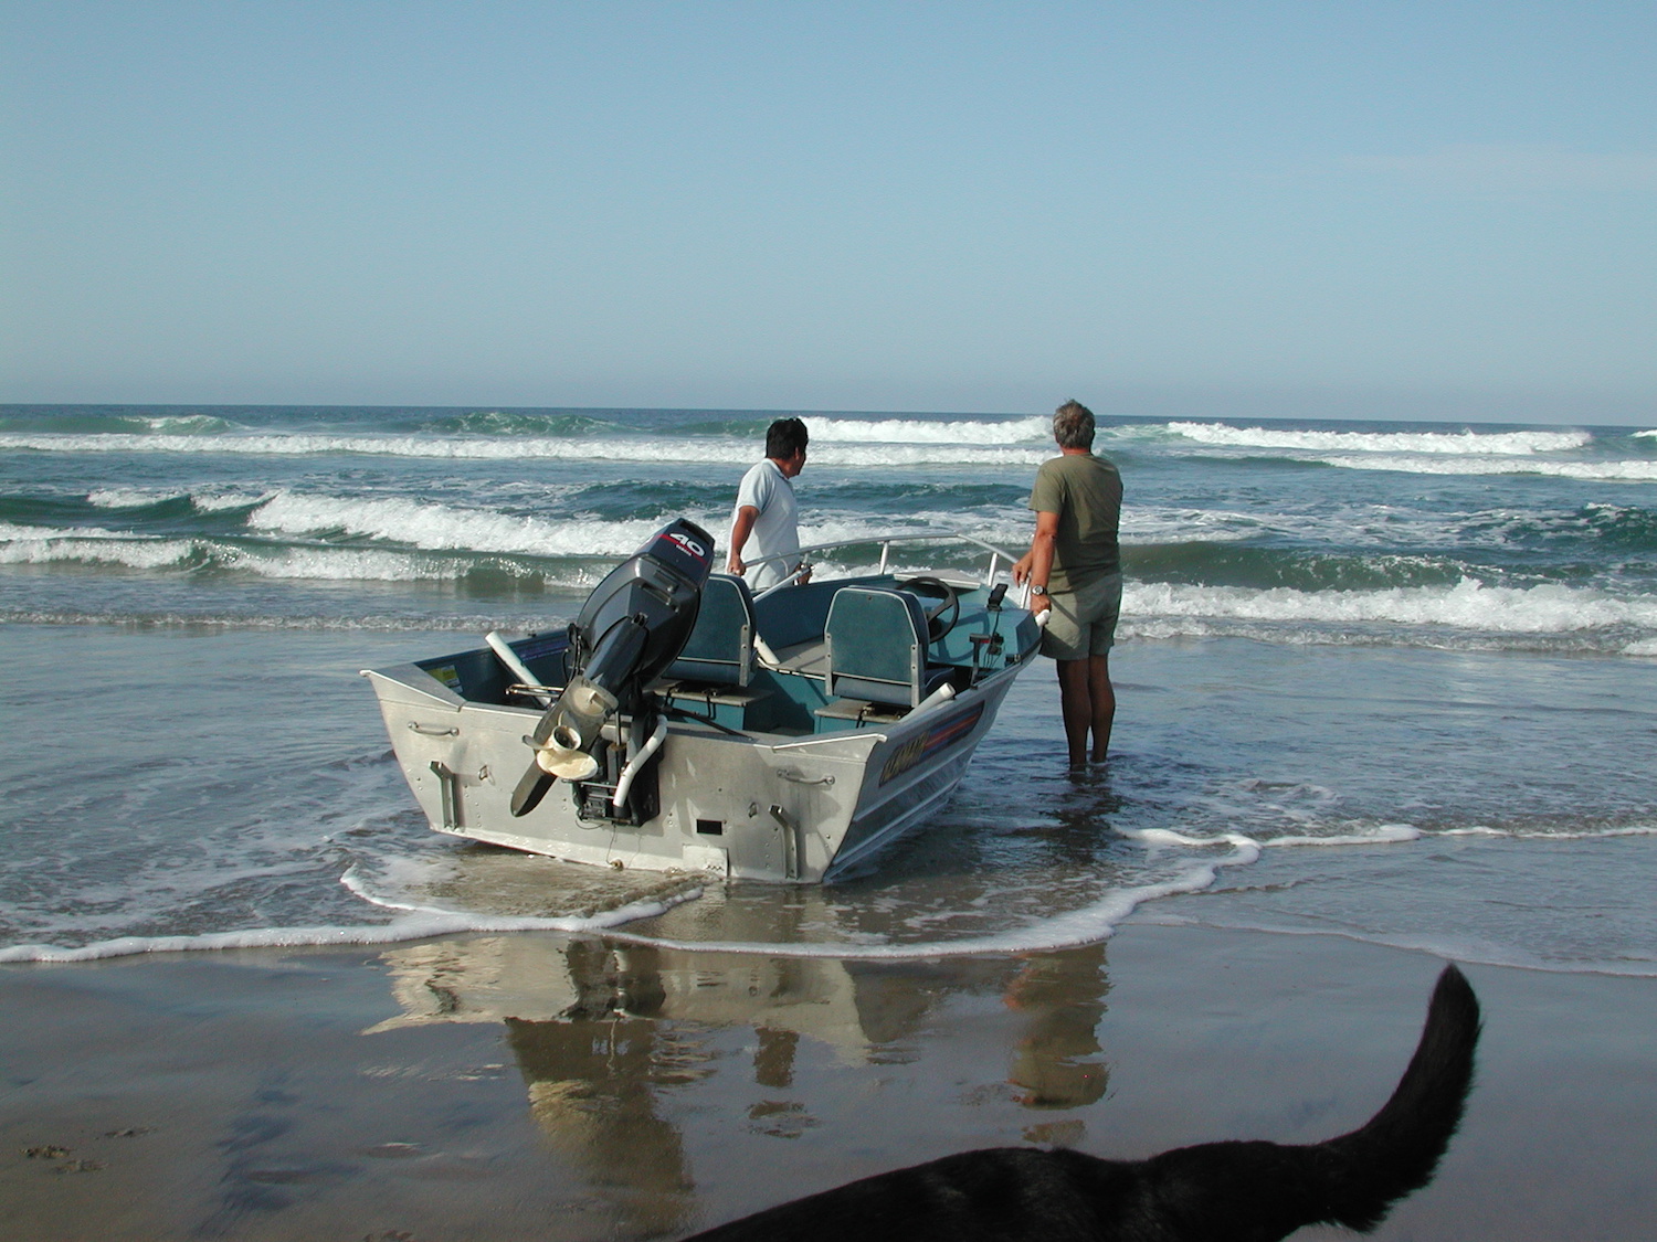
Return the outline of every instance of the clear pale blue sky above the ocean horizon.
{"type": "Polygon", "coordinates": [[[1652,422],[1654,66],[1650,0],[0,0],[0,401],[1652,422]]]}

